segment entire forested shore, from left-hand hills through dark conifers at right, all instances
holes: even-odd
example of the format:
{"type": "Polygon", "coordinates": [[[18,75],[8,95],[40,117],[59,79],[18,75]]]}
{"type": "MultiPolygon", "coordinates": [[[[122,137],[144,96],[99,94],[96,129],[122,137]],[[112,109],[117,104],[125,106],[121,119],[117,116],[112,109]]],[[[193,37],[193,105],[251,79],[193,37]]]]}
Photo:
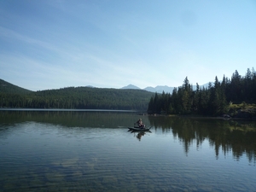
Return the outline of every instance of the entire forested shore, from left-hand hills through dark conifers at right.
{"type": "Polygon", "coordinates": [[[148,108],[148,113],[221,115],[230,112],[232,103],[256,103],[256,72],[247,69],[247,73],[241,76],[236,71],[231,79],[224,76],[219,81],[216,77],[207,88],[198,84],[196,88],[193,90],[186,77],[183,85],[174,88],[172,94],[90,87],[35,92],[0,79],[0,108],[148,108]]]}

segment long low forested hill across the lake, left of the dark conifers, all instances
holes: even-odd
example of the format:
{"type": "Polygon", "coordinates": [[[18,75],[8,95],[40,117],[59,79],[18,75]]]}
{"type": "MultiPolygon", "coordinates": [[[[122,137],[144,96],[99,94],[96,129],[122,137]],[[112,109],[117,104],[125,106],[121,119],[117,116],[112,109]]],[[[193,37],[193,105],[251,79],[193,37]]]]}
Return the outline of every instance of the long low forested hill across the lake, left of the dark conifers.
{"type": "Polygon", "coordinates": [[[0,108],[76,108],[144,110],[152,96],[146,90],[68,87],[28,94],[0,92],[0,108]]]}

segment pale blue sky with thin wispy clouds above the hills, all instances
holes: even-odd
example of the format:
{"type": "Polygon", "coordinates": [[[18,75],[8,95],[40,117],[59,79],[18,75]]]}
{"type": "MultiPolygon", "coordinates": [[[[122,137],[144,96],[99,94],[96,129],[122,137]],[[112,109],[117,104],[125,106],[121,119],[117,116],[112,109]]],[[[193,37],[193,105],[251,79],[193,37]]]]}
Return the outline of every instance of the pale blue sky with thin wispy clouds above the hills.
{"type": "Polygon", "coordinates": [[[0,79],[29,90],[206,84],[255,63],[255,0],[0,1],[0,79]]]}

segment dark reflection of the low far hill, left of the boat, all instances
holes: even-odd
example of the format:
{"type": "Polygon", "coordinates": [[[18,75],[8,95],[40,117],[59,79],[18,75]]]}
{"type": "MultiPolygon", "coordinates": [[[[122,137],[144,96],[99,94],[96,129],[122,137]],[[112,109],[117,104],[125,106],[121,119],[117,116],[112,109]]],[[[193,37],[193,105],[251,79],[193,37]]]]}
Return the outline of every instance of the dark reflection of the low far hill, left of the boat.
{"type": "Polygon", "coordinates": [[[136,113],[77,111],[0,111],[0,125],[35,121],[66,127],[118,128],[133,125],[136,113]]]}

